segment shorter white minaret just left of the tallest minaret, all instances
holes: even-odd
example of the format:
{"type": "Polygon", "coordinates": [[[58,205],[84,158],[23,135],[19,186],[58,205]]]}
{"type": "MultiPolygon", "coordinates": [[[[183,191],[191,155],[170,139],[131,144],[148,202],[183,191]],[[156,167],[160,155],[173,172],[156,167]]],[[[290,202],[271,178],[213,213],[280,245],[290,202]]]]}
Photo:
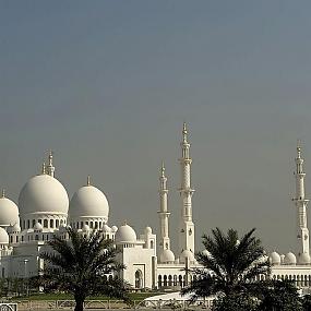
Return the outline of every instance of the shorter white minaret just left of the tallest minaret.
{"type": "Polygon", "coordinates": [[[167,210],[167,177],[165,176],[165,166],[162,164],[160,176],[159,176],[159,227],[160,227],[160,250],[169,250],[170,249],[170,239],[168,235],[168,217],[170,213],[167,210]]]}

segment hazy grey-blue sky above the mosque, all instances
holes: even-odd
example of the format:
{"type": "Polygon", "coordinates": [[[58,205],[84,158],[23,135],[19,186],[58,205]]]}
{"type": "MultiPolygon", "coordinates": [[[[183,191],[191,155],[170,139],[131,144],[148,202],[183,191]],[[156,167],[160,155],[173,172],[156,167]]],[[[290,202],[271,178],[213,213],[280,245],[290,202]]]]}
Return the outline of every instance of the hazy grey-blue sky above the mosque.
{"type": "Polygon", "coordinates": [[[311,198],[310,10],[307,0],[0,0],[0,187],[17,203],[52,149],[70,198],[91,175],[110,225],[157,231],[164,160],[176,249],[186,121],[196,249],[217,226],[255,227],[267,250],[295,250],[297,139],[311,198]]]}

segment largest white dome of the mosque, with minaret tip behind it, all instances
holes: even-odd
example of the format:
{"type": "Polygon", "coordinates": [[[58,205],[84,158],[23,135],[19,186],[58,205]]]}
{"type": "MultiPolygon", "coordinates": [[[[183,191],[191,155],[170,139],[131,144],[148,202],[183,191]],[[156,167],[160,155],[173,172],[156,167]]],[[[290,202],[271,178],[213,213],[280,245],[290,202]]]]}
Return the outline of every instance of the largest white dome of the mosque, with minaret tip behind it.
{"type": "Polygon", "coordinates": [[[69,199],[63,186],[49,175],[38,175],[31,178],[23,187],[19,206],[20,214],[68,213],[69,199]]]}

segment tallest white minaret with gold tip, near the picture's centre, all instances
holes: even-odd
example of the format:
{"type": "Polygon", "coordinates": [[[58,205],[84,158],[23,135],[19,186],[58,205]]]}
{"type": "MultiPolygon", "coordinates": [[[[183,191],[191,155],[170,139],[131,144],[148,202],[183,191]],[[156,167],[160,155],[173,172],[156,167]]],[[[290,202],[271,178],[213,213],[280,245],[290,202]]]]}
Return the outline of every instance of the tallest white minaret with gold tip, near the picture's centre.
{"type": "Polygon", "coordinates": [[[181,196],[181,217],[179,223],[179,252],[183,250],[190,250],[194,253],[194,224],[192,223],[192,194],[194,192],[191,189],[191,163],[190,158],[190,144],[188,142],[188,130],[187,124],[183,123],[182,129],[182,142],[181,146],[181,184],[180,184],[180,196],[181,196]]]}

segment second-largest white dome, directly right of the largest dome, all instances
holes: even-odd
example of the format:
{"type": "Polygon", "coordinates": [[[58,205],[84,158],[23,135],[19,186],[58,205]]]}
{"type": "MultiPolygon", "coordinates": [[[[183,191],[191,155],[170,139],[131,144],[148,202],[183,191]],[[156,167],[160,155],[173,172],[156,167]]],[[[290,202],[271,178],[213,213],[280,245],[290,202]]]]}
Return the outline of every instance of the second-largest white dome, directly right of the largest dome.
{"type": "Polygon", "coordinates": [[[100,217],[108,219],[109,205],[105,194],[93,186],[80,188],[72,196],[69,217],[100,217]]]}

